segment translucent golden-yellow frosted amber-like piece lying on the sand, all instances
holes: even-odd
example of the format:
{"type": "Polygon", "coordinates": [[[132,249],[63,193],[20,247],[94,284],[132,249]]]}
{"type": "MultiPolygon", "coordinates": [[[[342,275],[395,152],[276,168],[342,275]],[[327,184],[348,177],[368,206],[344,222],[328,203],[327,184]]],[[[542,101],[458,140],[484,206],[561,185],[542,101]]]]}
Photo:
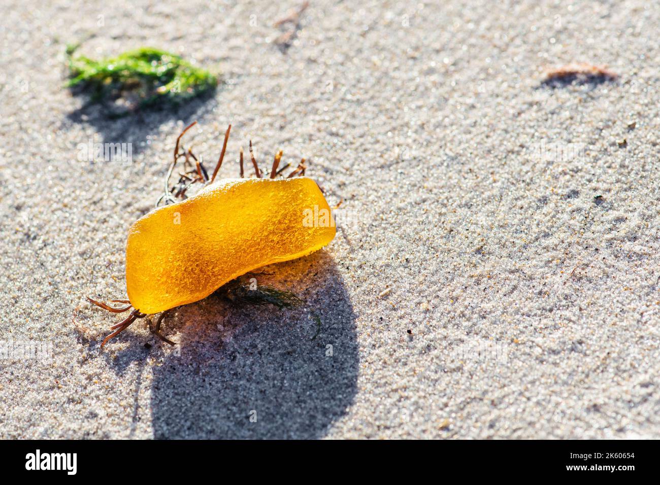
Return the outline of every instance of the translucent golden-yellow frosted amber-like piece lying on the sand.
{"type": "Polygon", "coordinates": [[[142,313],[197,302],[253,269],[321,249],[335,232],[310,178],[224,179],[131,226],[128,297],[142,313]]]}

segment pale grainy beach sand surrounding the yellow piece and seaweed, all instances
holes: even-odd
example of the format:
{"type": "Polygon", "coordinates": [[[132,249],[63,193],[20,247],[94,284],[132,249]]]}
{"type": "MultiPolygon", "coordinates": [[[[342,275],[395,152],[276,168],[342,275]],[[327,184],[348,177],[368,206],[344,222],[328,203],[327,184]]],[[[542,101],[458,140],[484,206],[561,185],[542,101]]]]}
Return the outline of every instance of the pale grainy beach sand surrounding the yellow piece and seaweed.
{"type": "Polygon", "coordinates": [[[657,4],[312,0],[279,46],[299,5],[5,1],[0,437],[660,437],[657,4]],[[112,119],[64,87],[81,40],[222,82],[112,119]],[[544,82],[580,62],[618,76],[544,82]],[[249,139],[262,168],[308,158],[337,236],[259,276],[304,307],[210,296],[166,321],[176,348],[140,320],[100,350],[119,317],[84,297],[125,295],[195,120],[209,165],[233,125],[222,177],[249,139]]]}

